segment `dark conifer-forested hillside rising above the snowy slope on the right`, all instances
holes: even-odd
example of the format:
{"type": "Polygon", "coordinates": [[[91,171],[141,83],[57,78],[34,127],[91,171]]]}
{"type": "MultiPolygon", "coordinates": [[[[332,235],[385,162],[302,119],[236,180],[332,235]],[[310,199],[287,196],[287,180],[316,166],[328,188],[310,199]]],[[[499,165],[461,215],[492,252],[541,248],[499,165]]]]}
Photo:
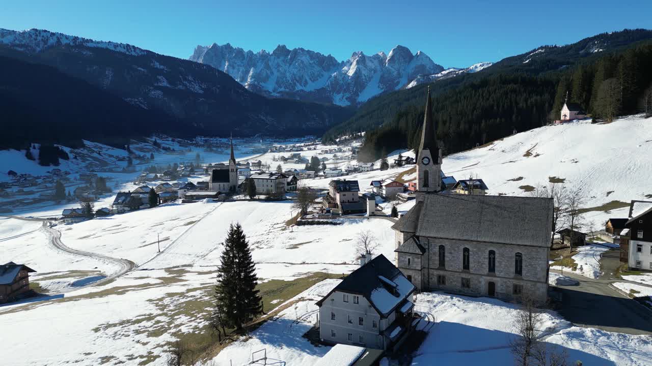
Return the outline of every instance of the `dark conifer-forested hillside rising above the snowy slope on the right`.
{"type": "MultiPolygon", "coordinates": [[[[640,41],[650,34],[623,31],[562,48],[546,46],[505,59],[496,68],[432,83],[437,139],[450,154],[505,137],[514,130],[542,126],[559,119],[567,91],[569,102],[580,103],[588,113],[602,119],[645,111],[645,96],[647,110],[652,109],[652,76],[644,66],[652,63],[652,42],[640,41]],[[625,46],[629,40],[637,42],[625,46]],[[614,49],[604,51],[609,44],[615,44],[614,49]],[[576,59],[569,59],[573,54],[576,59]],[[560,67],[564,62],[566,65],[560,67]]],[[[366,160],[378,159],[397,148],[415,147],[426,88],[419,85],[379,96],[348,122],[329,130],[324,139],[366,130],[361,150],[366,160]]]]}

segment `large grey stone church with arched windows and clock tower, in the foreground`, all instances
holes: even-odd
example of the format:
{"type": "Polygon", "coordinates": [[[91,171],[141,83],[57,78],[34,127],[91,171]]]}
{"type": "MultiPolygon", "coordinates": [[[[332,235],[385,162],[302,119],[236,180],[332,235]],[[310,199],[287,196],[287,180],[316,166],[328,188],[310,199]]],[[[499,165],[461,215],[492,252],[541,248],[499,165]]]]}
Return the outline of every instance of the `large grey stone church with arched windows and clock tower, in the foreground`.
{"type": "Polygon", "coordinates": [[[416,203],[392,227],[396,266],[421,291],[546,302],[552,199],[443,191],[431,103],[428,89],[416,203]]]}

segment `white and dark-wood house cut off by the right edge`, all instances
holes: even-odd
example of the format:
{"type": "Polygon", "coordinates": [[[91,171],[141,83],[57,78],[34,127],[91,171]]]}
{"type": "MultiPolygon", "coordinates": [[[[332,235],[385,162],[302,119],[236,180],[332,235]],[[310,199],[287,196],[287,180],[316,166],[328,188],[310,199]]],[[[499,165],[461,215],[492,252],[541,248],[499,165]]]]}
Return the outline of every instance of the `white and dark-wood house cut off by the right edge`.
{"type": "Polygon", "coordinates": [[[629,268],[652,270],[652,202],[632,201],[625,227],[621,232],[621,247],[627,238],[629,268]]]}

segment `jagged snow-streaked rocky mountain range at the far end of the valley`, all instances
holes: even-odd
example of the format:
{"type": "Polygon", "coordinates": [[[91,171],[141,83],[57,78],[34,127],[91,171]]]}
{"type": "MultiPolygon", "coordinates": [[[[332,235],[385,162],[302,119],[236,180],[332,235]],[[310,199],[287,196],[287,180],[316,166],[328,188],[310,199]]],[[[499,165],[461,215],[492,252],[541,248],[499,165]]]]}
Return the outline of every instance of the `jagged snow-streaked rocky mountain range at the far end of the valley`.
{"type": "MultiPolygon", "coordinates": [[[[417,85],[445,72],[422,51],[413,54],[404,46],[394,47],[389,54],[357,51],[349,59],[337,61],[331,55],[283,45],[271,53],[254,53],[214,43],[197,46],[190,60],[226,72],[250,91],[340,106],[356,106],[383,92],[417,85]]],[[[471,68],[454,70],[462,74],[478,69],[471,68]]]]}

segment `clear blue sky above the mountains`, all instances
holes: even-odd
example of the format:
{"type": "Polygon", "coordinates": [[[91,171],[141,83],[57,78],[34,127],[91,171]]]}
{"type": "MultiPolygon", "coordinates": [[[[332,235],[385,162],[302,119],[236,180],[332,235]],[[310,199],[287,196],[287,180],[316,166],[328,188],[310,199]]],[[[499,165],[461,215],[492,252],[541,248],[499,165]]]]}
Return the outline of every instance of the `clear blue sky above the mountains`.
{"type": "Polygon", "coordinates": [[[652,28],[652,1],[1,1],[0,28],[40,28],[187,58],[198,44],[331,54],[424,51],[445,67],[652,28]]]}

